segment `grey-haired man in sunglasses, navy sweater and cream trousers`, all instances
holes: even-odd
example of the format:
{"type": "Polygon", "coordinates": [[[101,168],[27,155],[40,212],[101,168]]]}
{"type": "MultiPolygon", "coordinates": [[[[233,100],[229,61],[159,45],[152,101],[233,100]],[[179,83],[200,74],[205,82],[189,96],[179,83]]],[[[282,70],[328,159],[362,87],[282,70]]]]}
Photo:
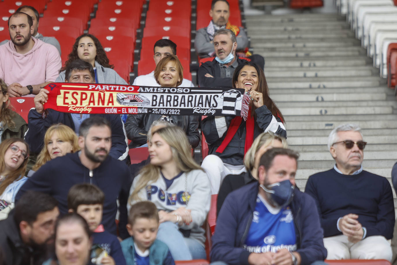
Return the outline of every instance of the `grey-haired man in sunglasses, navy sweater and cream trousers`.
{"type": "Polygon", "coordinates": [[[360,128],[343,124],[328,137],[332,169],[309,177],[305,192],[316,201],[327,259],[387,259],[393,236],[394,204],[386,178],[362,169],[360,128]]]}

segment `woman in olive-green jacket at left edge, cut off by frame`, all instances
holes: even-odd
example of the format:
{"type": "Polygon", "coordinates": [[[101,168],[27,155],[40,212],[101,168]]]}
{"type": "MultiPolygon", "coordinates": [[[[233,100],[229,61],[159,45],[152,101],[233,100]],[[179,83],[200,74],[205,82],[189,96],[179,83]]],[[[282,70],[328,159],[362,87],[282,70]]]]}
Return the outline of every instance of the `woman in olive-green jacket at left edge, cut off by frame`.
{"type": "Polygon", "coordinates": [[[26,131],[27,124],[11,109],[7,85],[0,79],[0,142],[8,138],[23,138],[26,131]]]}

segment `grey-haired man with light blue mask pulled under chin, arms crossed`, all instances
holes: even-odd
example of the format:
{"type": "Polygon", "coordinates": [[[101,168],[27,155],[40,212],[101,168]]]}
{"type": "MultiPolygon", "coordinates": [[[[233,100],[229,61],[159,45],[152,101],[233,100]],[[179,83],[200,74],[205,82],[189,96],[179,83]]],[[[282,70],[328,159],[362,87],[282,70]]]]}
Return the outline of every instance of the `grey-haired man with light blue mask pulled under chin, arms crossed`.
{"type": "Polygon", "coordinates": [[[231,78],[239,64],[246,60],[253,61],[263,68],[264,59],[260,55],[240,59],[236,56],[237,40],[230,29],[220,29],[214,34],[216,57],[210,62],[204,62],[198,68],[198,85],[200,87],[232,87],[231,78]]]}

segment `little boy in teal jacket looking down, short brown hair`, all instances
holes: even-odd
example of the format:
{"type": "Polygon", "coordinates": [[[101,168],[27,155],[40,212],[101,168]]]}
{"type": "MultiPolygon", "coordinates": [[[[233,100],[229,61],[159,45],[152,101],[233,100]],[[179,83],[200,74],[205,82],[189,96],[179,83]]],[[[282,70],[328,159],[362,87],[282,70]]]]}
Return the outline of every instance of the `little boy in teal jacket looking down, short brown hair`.
{"type": "Polygon", "coordinates": [[[151,201],[140,201],[131,206],[127,231],[131,238],[121,242],[127,264],[175,265],[168,247],[156,240],[158,211],[151,201]]]}

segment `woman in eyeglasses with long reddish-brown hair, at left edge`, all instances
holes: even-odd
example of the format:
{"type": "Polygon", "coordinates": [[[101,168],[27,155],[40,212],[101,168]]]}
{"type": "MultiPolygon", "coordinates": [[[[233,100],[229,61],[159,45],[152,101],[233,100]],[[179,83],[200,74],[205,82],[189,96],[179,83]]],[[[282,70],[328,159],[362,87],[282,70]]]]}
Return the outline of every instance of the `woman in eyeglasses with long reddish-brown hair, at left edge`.
{"type": "Polygon", "coordinates": [[[23,139],[10,138],[0,144],[0,209],[15,200],[19,188],[25,183],[24,176],[29,147],[23,139]]]}

